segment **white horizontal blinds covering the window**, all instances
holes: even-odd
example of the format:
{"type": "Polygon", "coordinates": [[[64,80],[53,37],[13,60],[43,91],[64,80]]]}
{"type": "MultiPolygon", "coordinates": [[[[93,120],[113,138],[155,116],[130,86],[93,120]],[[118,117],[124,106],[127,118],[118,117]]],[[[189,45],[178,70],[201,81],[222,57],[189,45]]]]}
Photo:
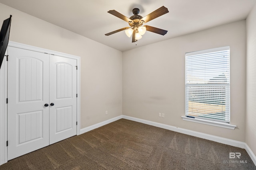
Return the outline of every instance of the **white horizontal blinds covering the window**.
{"type": "Polygon", "coordinates": [[[230,48],[186,53],[186,116],[230,122],[230,48]]]}

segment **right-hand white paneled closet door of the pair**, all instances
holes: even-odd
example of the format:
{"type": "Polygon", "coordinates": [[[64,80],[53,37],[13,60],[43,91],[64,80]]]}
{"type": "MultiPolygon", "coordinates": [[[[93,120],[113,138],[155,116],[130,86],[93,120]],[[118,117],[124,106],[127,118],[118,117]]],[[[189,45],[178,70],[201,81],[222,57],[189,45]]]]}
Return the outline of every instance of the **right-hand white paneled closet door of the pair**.
{"type": "Polygon", "coordinates": [[[50,144],[76,135],[76,60],[50,55],[50,144]]]}

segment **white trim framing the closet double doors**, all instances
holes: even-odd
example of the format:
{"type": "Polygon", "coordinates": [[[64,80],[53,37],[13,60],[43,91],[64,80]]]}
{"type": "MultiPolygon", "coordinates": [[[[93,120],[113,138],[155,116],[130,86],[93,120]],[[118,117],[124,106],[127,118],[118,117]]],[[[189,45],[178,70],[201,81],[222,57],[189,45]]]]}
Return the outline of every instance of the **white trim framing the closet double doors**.
{"type": "MultiPolygon", "coordinates": [[[[8,47],[16,47],[20,49],[26,49],[31,51],[36,51],[40,53],[47,53],[50,55],[58,55],[60,57],[66,57],[70,59],[76,59],[77,61],[77,112],[76,112],[76,119],[77,119],[77,126],[76,126],[76,135],[80,135],[80,57],[75,55],[69,55],[66,53],[61,53],[57,51],[52,51],[48,49],[43,49],[40,47],[34,47],[31,45],[26,45],[22,43],[16,43],[14,41],[9,41],[8,47]]],[[[2,109],[0,109],[0,165],[7,162],[7,104],[6,104],[6,98],[7,98],[7,62],[3,61],[1,66],[1,72],[0,72],[0,92],[4,93],[3,97],[0,97],[0,106],[2,109]],[[3,107],[2,107],[3,106],[3,107]]],[[[1,95],[2,96],[2,95],[1,95]]]]}

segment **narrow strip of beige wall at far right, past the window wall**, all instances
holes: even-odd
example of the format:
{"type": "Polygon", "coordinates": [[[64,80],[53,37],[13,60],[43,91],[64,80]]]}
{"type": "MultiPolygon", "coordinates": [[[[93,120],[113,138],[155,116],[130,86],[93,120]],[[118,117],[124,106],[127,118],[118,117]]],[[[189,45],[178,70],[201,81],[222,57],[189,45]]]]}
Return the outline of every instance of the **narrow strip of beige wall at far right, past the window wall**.
{"type": "Polygon", "coordinates": [[[246,19],[246,143],[256,154],[256,5],[246,19]]]}

